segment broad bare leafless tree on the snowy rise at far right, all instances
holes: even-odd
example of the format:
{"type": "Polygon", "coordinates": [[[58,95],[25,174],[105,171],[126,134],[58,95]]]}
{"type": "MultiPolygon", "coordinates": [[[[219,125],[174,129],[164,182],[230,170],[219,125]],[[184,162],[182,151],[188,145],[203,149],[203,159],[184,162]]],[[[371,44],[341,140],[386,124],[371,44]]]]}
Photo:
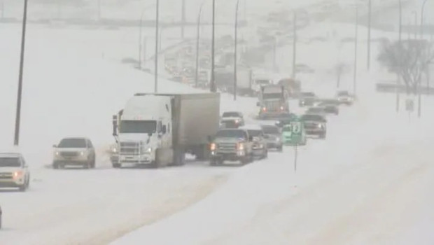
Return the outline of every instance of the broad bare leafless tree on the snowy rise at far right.
{"type": "Polygon", "coordinates": [[[381,45],[379,62],[402,78],[407,94],[418,94],[421,78],[434,59],[432,44],[426,40],[407,40],[384,41],[381,45]]]}

